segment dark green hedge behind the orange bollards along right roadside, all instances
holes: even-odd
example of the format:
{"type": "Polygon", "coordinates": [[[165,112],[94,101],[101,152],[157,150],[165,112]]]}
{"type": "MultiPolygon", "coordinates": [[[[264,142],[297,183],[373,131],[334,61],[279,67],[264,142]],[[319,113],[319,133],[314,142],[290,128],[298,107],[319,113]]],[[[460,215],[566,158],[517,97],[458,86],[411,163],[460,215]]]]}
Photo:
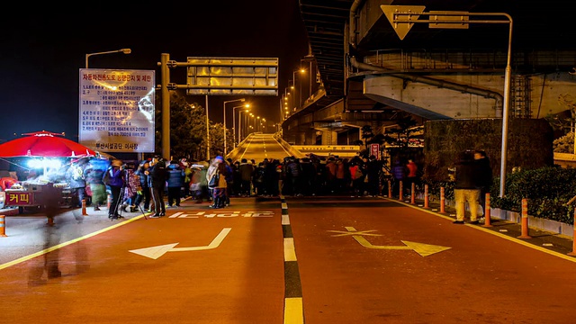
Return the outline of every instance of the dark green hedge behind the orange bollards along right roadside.
{"type": "MultiPolygon", "coordinates": [[[[445,187],[445,197],[454,200],[454,183],[424,181],[431,195],[440,196],[445,187]]],[[[505,194],[500,198],[500,177],[491,186],[491,207],[506,211],[522,211],[522,199],[528,200],[528,215],[546,220],[573,224],[574,206],[566,205],[576,195],[576,169],[544,166],[521,170],[506,176],[505,194]]]]}

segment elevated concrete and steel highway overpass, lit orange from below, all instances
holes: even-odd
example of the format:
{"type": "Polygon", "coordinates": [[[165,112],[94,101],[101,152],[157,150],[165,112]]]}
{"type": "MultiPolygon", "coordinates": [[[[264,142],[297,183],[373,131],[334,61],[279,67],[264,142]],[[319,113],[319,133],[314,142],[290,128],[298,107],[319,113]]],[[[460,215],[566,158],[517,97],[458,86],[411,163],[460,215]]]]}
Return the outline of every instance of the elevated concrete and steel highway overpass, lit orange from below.
{"type": "MultiPolygon", "coordinates": [[[[508,26],[428,29],[415,23],[400,40],[380,4],[413,0],[302,0],[302,21],[319,83],[291,108],[284,139],[298,145],[346,145],[370,124],[384,132],[410,115],[418,122],[501,118],[508,26]]],[[[507,13],[511,42],[511,118],[565,112],[559,97],[573,92],[576,31],[562,1],[514,5],[488,0],[427,1],[426,12],[507,13]],[[537,14],[536,14],[537,13],[537,14]],[[549,20],[554,17],[554,22],[549,20]],[[560,32],[559,32],[560,31],[560,32]]]]}

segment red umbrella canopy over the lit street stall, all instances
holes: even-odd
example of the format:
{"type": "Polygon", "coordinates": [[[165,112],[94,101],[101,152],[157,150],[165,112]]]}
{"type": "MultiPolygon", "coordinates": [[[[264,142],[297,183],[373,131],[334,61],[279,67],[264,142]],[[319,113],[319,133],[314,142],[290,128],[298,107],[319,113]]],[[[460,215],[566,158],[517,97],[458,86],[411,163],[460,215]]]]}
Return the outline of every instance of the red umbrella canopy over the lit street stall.
{"type": "Polygon", "coordinates": [[[89,157],[96,152],[62,134],[42,130],[0,144],[0,157],[89,157]]]}

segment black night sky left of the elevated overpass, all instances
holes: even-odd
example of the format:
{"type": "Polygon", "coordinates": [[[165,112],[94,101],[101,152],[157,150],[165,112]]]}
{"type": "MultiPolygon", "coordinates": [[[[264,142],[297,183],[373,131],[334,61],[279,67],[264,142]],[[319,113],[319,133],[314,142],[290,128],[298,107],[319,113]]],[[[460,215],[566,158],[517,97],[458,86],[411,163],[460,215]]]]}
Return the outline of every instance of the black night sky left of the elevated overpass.
{"type": "MultiPolygon", "coordinates": [[[[37,130],[64,131],[77,141],[78,73],[86,53],[129,48],[129,55],[90,57],[89,67],[153,69],[157,85],[162,53],[178,62],[279,58],[280,94],[308,53],[298,0],[25,5],[0,22],[0,142],[37,130]]],[[[170,69],[171,82],[185,84],[185,75],[185,67],[170,69]]],[[[240,97],[209,96],[211,120],[221,122],[223,101],[240,97]]],[[[245,97],[257,115],[278,121],[278,96],[245,97]]],[[[188,96],[188,101],[203,106],[204,96],[188,96]]]]}

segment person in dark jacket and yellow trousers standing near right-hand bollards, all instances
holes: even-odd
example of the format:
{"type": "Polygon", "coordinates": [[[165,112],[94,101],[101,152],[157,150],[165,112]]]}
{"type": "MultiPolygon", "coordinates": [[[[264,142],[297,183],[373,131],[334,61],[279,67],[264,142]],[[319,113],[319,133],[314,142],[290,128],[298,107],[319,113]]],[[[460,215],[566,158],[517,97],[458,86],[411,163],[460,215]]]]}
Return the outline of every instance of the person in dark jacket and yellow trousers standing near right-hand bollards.
{"type": "Polygon", "coordinates": [[[474,162],[473,152],[465,151],[459,155],[455,170],[455,224],[464,224],[465,204],[470,207],[470,223],[478,224],[478,165],[474,162]]]}

